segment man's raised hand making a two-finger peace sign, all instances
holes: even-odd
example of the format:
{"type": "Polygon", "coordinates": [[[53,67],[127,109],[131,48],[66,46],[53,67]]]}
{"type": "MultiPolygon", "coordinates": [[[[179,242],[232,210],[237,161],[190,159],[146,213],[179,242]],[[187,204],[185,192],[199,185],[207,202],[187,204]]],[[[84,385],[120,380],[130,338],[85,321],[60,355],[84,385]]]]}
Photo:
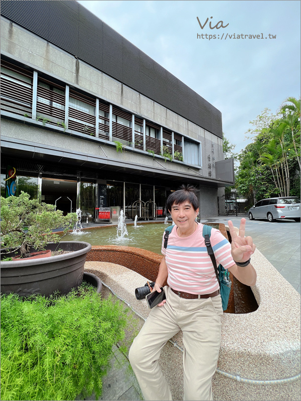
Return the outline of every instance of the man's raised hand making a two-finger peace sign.
{"type": "Polygon", "coordinates": [[[246,219],[241,219],[239,233],[236,234],[233,223],[228,221],[229,231],[231,235],[231,255],[234,262],[242,263],[250,259],[254,253],[256,246],[253,244],[252,237],[245,237],[246,219]]]}

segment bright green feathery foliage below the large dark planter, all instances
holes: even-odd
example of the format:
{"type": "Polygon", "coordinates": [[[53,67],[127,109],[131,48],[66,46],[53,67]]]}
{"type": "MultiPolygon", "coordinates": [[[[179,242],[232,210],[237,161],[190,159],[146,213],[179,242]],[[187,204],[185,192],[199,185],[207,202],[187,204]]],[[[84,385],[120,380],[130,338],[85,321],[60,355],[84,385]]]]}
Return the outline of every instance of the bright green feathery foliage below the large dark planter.
{"type": "Polygon", "coordinates": [[[1,399],[100,396],[127,319],[123,305],[87,286],[50,299],[1,296],[1,399]]]}

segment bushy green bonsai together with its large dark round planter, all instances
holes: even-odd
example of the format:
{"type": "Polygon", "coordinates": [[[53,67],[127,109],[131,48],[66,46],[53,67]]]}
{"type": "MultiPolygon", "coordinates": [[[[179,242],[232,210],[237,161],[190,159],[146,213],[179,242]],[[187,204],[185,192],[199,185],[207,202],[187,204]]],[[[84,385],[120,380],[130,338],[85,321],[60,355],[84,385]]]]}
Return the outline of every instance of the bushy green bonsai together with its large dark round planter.
{"type": "Polygon", "coordinates": [[[19,197],[1,197],[1,292],[22,296],[56,291],[67,294],[81,284],[84,263],[91,245],[59,242],[53,230],[66,234],[77,221],[75,213],[63,216],[54,205],[39,204],[21,192],[19,197]],[[32,259],[31,253],[50,250],[52,256],[32,259]],[[11,258],[20,256],[16,260],[11,258]]]}

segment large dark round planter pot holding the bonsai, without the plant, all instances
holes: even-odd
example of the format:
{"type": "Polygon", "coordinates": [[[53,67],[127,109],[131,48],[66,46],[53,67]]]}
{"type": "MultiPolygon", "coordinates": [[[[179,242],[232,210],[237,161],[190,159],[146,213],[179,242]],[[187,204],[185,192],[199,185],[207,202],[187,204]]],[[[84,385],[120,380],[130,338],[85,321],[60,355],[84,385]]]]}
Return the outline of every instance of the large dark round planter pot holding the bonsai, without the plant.
{"type": "Polygon", "coordinates": [[[75,241],[47,245],[52,251],[57,247],[72,252],[43,259],[1,262],[1,293],[49,296],[56,291],[67,294],[71,288],[79,286],[91,245],[75,241]]]}

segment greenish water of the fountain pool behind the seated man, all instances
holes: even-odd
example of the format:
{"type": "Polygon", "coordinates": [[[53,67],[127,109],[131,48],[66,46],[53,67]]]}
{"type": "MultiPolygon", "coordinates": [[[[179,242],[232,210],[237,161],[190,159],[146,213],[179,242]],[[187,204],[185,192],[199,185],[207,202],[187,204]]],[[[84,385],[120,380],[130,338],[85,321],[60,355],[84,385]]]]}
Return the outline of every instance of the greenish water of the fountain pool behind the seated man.
{"type": "MultiPolygon", "coordinates": [[[[218,224],[210,224],[210,226],[218,229],[218,224]]],[[[64,237],[64,241],[84,241],[91,245],[122,245],[127,247],[135,247],[146,249],[161,255],[161,246],[164,230],[167,224],[164,223],[143,223],[139,230],[133,225],[127,225],[128,236],[123,239],[117,237],[117,227],[97,227],[93,229],[83,230],[79,233],[70,233],[64,237]]]]}

